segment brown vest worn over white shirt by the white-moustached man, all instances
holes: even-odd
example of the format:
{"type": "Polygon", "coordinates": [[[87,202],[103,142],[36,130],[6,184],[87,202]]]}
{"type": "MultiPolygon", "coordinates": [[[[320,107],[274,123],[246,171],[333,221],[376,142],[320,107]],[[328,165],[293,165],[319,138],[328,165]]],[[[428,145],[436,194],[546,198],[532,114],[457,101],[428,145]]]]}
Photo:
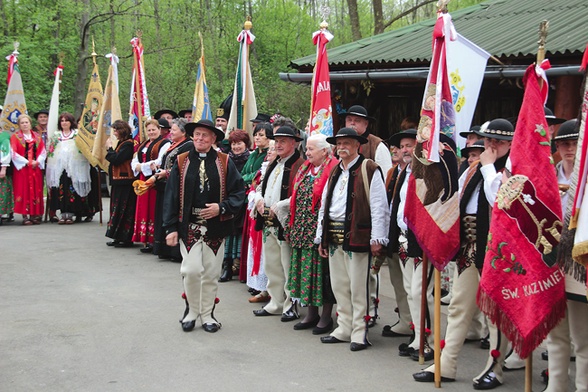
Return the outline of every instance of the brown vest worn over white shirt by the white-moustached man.
{"type": "MultiPolygon", "coordinates": [[[[361,171],[363,156],[357,160],[349,170],[349,182],[347,184],[347,209],[345,210],[345,239],[343,249],[350,252],[369,252],[372,232],[372,216],[369,196],[365,190],[364,178],[361,171]],[[351,207],[351,208],[349,208],[351,207]]],[[[366,161],[367,187],[369,189],[372,178],[379,166],[368,159],[366,161]]],[[[328,246],[329,209],[333,197],[333,190],[341,175],[341,166],[337,165],[329,176],[329,188],[325,202],[325,215],[323,219],[322,246],[328,246]]]]}

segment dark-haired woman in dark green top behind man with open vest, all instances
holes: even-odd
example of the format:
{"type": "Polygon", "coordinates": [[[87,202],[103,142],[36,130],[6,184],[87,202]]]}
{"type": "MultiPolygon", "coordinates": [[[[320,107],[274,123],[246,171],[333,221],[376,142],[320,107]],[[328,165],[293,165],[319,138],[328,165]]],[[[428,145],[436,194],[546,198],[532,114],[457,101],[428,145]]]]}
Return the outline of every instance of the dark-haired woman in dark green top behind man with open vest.
{"type": "MultiPolygon", "coordinates": [[[[269,142],[270,139],[268,136],[272,136],[273,134],[273,127],[269,122],[261,122],[255,124],[255,128],[253,128],[253,142],[255,143],[255,149],[249,155],[247,159],[247,163],[243,167],[241,171],[241,176],[243,177],[243,181],[245,182],[245,186],[248,189],[251,189],[251,184],[254,182],[255,178],[258,176],[259,169],[261,168],[261,164],[265,161],[265,157],[267,155],[267,151],[269,149],[269,142]]],[[[248,190],[249,192],[249,190],[248,190]]],[[[247,255],[249,254],[249,211],[247,210],[247,215],[245,216],[245,221],[243,222],[243,232],[242,232],[242,240],[241,240],[241,265],[239,266],[239,281],[242,283],[247,282],[247,270],[249,269],[247,266],[247,255]]]]}

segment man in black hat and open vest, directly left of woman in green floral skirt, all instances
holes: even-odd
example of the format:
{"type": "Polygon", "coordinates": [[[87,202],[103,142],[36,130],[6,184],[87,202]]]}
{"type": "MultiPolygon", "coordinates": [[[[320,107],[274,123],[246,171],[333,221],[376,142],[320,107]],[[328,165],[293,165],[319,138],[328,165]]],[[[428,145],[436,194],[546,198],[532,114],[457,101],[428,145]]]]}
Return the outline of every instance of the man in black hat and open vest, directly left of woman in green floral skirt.
{"type": "Polygon", "coordinates": [[[278,158],[267,168],[254,199],[257,210],[255,229],[263,230],[267,292],[271,300],[263,308],[254,310],[253,314],[256,316],[282,314],[282,321],[286,322],[296,320],[298,314],[293,309],[290,291],[286,289],[292,249],[284,237],[284,228],[276,218],[276,212],[282,204],[289,203],[286,199],[292,195],[294,177],[303,159],[296,149],[301,139],[296,136],[292,128],[288,126],[278,128],[271,139],[275,140],[278,158]]]}

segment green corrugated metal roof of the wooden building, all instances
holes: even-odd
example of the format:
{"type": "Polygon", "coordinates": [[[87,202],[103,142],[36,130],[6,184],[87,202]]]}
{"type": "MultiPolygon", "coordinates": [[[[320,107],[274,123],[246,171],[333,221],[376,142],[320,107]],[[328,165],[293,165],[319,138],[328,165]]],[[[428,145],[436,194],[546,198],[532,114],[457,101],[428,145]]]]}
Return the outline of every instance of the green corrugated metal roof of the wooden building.
{"type": "MultiPolygon", "coordinates": [[[[588,42],[587,0],[490,0],[451,13],[457,31],[501,60],[535,56],[539,23],[549,21],[547,57],[581,54],[588,42]]],[[[375,68],[429,62],[436,18],[328,50],[329,64],[375,68]]],[[[335,36],[336,39],[336,36],[335,36]]],[[[314,65],[316,55],[293,60],[314,65]]]]}

